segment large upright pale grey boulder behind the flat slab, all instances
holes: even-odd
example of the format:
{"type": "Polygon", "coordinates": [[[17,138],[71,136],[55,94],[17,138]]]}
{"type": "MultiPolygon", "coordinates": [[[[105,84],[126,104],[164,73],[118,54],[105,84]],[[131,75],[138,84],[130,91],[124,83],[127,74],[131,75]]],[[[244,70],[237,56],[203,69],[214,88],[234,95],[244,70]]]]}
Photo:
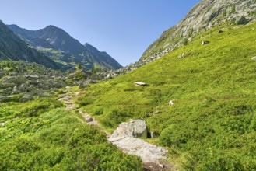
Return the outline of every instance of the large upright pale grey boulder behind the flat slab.
{"type": "Polygon", "coordinates": [[[121,123],[110,138],[117,137],[147,137],[147,127],[145,120],[130,120],[121,123]]]}

